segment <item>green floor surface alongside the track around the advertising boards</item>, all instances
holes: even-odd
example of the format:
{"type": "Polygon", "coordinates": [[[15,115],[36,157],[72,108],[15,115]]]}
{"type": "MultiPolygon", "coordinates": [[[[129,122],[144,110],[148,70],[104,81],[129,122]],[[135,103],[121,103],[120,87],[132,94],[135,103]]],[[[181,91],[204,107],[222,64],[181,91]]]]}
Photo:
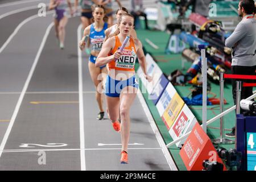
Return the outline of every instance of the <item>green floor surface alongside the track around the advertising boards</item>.
{"type": "MultiPolygon", "coordinates": [[[[147,31],[147,30],[137,30],[138,38],[141,40],[142,45],[146,52],[151,53],[151,55],[158,61],[157,64],[162,69],[163,73],[166,75],[170,74],[175,69],[181,70],[181,54],[170,54],[166,55],[164,53],[166,49],[166,45],[169,39],[169,36],[166,32],[160,32],[160,31],[147,31]],[[152,48],[145,39],[150,39],[152,43],[154,43],[156,46],[159,47],[159,49],[152,48]]],[[[185,73],[189,67],[191,67],[192,63],[186,62],[184,64],[184,70],[181,70],[183,73],[185,73]]],[[[138,68],[138,64],[137,64],[138,68]]],[[[141,86],[143,86],[141,84],[141,86]]],[[[216,94],[216,98],[219,98],[220,96],[220,86],[218,84],[214,84],[211,82],[212,90],[211,92],[216,94]]],[[[185,86],[175,86],[177,92],[180,94],[181,97],[187,97],[191,91],[189,88],[191,88],[191,85],[187,84],[185,86]]],[[[147,105],[151,111],[152,116],[155,119],[156,125],[159,128],[160,133],[162,134],[162,137],[166,144],[172,142],[172,138],[170,137],[168,130],[166,126],[164,125],[162,119],[160,118],[160,115],[158,114],[158,111],[156,109],[156,106],[152,103],[152,101],[147,100],[147,93],[143,94],[147,105]]],[[[212,97],[212,95],[208,95],[208,97],[212,97]]],[[[233,104],[233,98],[232,98],[232,85],[228,82],[225,82],[225,88],[224,88],[224,98],[228,102],[226,104],[225,110],[232,107],[233,104]]],[[[192,113],[196,116],[197,121],[201,122],[202,120],[202,106],[190,106],[189,107],[192,111],[192,113]]],[[[220,106],[219,105],[212,105],[207,106],[207,119],[212,119],[217,114],[220,114],[220,106]]],[[[229,114],[226,114],[224,117],[225,121],[225,129],[231,129],[235,125],[236,121],[236,114],[235,111],[231,111],[229,114]]],[[[220,119],[210,124],[207,128],[207,134],[210,139],[219,138],[220,137],[220,119]]],[[[226,130],[226,133],[229,133],[230,131],[226,130]]],[[[226,144],[226,145],[220,145],[220,147],[224,147],[226,149],[234,148],[234,144],[226,144]]],[[[180,158],[179,151],[180,149],[176,146],[171,146],[169,148],[171,155],[173,156],[175,163],[177,164],[177,167],[179,170],[184,171],[186,170],[183,161],[180,158]]]]}

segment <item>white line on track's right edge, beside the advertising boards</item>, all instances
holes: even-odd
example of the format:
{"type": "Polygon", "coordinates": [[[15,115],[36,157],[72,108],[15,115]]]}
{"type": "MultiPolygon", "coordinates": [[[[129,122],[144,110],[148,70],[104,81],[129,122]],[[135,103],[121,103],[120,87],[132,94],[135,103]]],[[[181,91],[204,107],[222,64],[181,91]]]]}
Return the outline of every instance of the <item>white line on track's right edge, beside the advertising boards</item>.
{"type": "Polygon", "coordinates": [[[144,112],[147,116],[148,122],[150,122],[151,129],[153,130],[155,137],[158,140],[160,147],[162,148],[162,152],[163,152],[164,156],[166,157],[167,163],[168,163],[171,171],[177,171],[177,167],[174,163],[174,159],[172,159],[172,156],[171,156],[170,152],[168,151],[166,144],[164,143],[164,140],[158,130],[158,127],[155,124],[154,118],[152,117],[150,110],[147,107],[146,101],[144,100],[140,89],[138,89],[137,96],[138,96],[139,101],[141,102],[141,105],[142,105],[144,112]]]}

